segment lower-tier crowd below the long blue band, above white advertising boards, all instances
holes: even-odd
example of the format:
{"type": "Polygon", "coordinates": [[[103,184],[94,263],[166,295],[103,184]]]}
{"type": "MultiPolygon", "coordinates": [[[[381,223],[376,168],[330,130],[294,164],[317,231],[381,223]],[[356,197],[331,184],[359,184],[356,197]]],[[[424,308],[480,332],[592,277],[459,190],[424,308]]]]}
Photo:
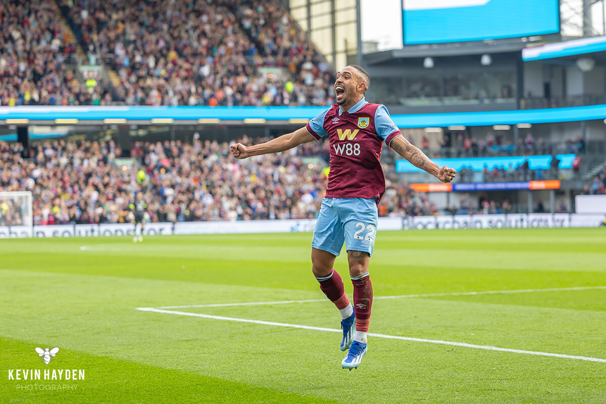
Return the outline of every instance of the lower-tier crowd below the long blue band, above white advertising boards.
{"type": "MultiPolygon", "coordinates": [[[[302,158],[327,156],[327,142],[242,161],[228,150],[227,143],[215,141],[136,142],[130,151],[136,164],[120,165],[116,156],[122,150],[113,141],[48,141],[25,160],[21,144],[0,142],[0,190],[32,191],[34,222],[42,225],[128,222],[128,205],[138,192],[144,193],[154,222],[318,214],[325,167],[302,158]],[[145,173],[142,182],[137,179],[139,169],[145,173]]],[[[393,169],[384,170],[387,191],[381,216],[438,213],[427,195],[412,191],[393,169]]],[[[11,224],[6,214],[2,222],[11,224]]]]}

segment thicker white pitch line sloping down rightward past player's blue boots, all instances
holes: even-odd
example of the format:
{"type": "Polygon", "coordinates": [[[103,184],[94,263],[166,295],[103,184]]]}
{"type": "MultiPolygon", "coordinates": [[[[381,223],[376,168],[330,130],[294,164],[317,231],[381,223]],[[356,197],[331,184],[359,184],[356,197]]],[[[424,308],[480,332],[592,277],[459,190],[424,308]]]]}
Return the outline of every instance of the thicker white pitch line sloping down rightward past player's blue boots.
{"type": "MultiPolygon", "coordinates": [[[[213,320],[224,320],[224,321],[233,321],[233,322],[241,322],[241,323],[272,325],[272,326],[288,327],[288,328],[311,329],[313,331],[325,331],[328,333],[342,333],[341,329],[314,327],[314,326],[310,326],[310,325],[300,325],[300,324],[276,323],[276,322],[272,322],[272,321],[263,321],[263,320],[238,319],[236,317],[211,316],[210,314],[187,313],[186,311],[162,310],[162,309],[153,308],[153,307],[138,307],[138,308],[136,308],[136,310],[152,311],[154,313],[163,313],[163,314],[177,314],[178,316],[202,317],[204,319],[213,319],[213,320]]],[[[558,357],[558,358],[565,358],[565,359],[586,360],[588,362],[606,363],[606,359],[601,359],[601,358],[593,358],[593,357],[577,356],[577,355],[554,354],[554,353],[540,352],[540,351],[525,351],[524,349],[499,348],[498,346],[476,345],[473,343],[465,343],[465,342],[442,341],[442,340],[412,338],[412,337],[399,337],[399,336],[390,336],[387,334],[375,334],[375,333],[368,333],[368,336],[376,337],[376,338],[386,338],[386,339],[399,339],[399,340],[404,340],[404,341],[437,343],[440,345],[462,346],[464,348],[485,349],[488,351],[510,352],[510,353],[514,353],[514,354],[551,356],[551,357],[558,357]]]]}

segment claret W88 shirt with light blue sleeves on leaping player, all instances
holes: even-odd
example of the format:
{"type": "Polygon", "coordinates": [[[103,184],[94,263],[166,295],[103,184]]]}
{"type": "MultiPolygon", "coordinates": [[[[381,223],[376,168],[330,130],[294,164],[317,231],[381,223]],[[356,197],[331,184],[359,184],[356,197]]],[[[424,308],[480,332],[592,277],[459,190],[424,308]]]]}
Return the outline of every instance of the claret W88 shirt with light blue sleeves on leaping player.
{"type": "Polygon", "coordinates": [[[381,168],[382,142],[401,134],[387,108],[362,98],[348,111],[333,104],[307,124],[317,140],[328,136],[330,174],[326,197],[362,197],[377,201],[385,192],[381,168]]]}

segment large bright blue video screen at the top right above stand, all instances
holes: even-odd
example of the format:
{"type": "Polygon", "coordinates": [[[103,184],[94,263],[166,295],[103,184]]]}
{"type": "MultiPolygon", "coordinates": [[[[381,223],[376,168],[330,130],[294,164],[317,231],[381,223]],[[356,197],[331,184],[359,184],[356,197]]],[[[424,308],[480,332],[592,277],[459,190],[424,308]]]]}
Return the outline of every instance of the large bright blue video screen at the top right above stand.
{"type": "Polygon", "coordinates": [[[404,45],[558,33],[558,0],[402,0],[404,45]]]}

